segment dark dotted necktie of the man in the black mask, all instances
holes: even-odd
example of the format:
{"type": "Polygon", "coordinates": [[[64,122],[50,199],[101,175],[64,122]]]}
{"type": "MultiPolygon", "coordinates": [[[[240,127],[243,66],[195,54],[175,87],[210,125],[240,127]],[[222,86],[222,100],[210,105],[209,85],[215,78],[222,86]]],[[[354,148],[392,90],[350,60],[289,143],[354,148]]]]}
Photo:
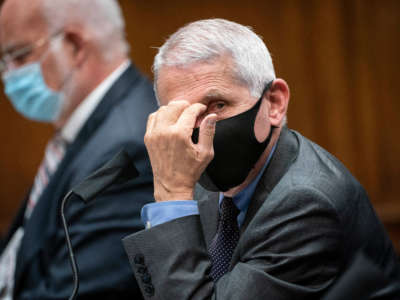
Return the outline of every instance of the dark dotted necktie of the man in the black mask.
{"type": "Polygon", "coordinates": [[[233,251],[239,240],[237,222],[239,212],[240,210],[233,203],[232,198],[225,197],[222,200],[217,234],[208,248],[212,262],[210,275],[214,282],[228,272],[233,251]]]}

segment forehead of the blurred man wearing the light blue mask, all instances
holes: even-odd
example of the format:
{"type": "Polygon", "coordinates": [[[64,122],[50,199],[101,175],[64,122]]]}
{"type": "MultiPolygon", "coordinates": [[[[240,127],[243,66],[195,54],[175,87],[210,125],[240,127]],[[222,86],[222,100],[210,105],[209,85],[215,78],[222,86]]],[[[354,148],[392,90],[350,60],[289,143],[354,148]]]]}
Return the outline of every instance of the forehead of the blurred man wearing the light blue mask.
{"type": "Polygon", "coordinates": [[[40,0],[7,0],[0,11],[0,41],[4,51],[36,41],[47,34],[39,13],[40,0]]]}

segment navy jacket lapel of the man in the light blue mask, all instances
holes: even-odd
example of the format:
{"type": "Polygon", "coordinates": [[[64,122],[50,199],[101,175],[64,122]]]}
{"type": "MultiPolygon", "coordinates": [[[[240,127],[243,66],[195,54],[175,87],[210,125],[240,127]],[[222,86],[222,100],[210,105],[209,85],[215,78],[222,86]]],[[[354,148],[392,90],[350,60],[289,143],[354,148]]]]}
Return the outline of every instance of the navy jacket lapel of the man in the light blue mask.
{"type": "Polygon", "coordinates": [[[57,231],[59,226],[59,203],[68,192],[68,189],[71,188],[68,185],[69,182],[66,181],[69,178],[65,176],[68,166],[71,165],[76,155],[79,154],[80,149],[99,128],[112,107],[124,99],[124,95],[129,92],[139,78],[139,72],[131,65],[105,94],[74,142],[68,146],[57,171],[53,174],[49,184],[40,196],[32,216],[24,226],[25,233],[17,256],[14,294],[18,291],[21,283],[20,279],[25,268],[57,231]]]}

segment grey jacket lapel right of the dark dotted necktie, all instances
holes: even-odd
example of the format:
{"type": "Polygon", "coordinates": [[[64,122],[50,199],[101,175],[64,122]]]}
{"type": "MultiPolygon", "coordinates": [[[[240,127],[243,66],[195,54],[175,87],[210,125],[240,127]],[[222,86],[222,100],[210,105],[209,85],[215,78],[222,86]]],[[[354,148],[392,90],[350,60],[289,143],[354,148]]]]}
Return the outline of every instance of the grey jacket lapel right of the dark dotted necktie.
{"type": "MultiPolygon", "coordinates": [[[[262,175],[256,187],[253,199],[250,202],[246,218],[242,227],[240,228],[241,236],[246,234],[246,229],[248,228],[257,211],[260,209],[264,201],[267,200],[269,194],[281,180],[283,175],[286,174],[292,163],[296,160],[298,155],[298,147],[299,145],[296,136],[287,127],[283,127],[276,145],[275,152],[270,163],[265,169],[264,174],[262,175]]],[[[231,266],[233,266],[240,258],[240,242],[241,239],[239,239],[238,246],[233,253],[231,266]]]]}

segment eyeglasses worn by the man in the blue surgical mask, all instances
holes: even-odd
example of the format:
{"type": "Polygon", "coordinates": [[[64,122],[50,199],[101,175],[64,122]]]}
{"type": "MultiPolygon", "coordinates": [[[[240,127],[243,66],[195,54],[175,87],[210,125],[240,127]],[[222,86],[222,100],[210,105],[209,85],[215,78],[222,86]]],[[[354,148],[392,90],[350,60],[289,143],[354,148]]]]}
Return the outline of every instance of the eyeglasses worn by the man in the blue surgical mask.
{"type": "Polygon", "coordinates": [[[62,31],[57,31],[47,37],[41,38],[32,45],[28,45],[4,54],[0,58],[0,73],[4,73],[5,71],[7,71],[11,67],[10,65],[24,64],[26,59],[32,54],[35,49],[44,46],[48,42],[51,42],[60,34],[62,34],[62,31]]]}

